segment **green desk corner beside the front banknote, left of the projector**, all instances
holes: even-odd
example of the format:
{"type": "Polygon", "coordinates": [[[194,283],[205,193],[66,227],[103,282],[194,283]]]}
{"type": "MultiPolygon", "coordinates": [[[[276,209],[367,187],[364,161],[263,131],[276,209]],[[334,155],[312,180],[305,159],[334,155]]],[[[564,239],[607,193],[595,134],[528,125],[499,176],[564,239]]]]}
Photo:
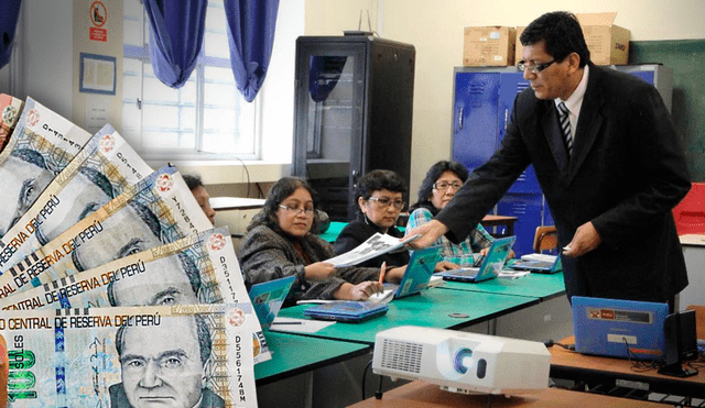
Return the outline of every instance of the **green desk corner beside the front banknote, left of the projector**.
{"type": "Polygon", "coordinates": [[[367,354],[371,350],[367,344],[297,334],[265,331],[264,337],[272,351],[272,359],[254,365],[258,386],[367,354]]]}

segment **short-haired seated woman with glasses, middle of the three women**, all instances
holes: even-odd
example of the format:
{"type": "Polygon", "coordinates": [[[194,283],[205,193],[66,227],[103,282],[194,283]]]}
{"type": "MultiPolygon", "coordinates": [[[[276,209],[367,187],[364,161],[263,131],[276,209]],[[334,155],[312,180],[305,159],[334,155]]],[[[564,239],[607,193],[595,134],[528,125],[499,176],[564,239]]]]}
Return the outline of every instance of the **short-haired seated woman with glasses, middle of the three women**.
{"type": "MultiPolygon", "coordinates": [[[[335,241],[336,254],[346,253],[367,241],[377,232],[394,238],[404,234],[394,227],[404,208],[403,194],[406,186],[392,170],[372,170],[357,181],[357,219],[345,225],[335,241]]],[[[409,263],[409,252],[387,253],[360,264],[360,266],[380,267],[402,266],[409,263]]]]}

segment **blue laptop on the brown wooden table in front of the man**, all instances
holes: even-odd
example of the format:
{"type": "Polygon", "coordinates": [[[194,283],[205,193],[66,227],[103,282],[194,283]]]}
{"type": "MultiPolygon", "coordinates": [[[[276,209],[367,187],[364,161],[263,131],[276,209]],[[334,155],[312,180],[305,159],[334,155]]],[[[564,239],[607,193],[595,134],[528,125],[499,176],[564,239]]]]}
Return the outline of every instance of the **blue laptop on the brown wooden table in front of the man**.
{"type": "Polygon", "coordinates": [[[581,296],[572,304],[577,352],[640,360],[664,355],[668,304],[581,296]]]}

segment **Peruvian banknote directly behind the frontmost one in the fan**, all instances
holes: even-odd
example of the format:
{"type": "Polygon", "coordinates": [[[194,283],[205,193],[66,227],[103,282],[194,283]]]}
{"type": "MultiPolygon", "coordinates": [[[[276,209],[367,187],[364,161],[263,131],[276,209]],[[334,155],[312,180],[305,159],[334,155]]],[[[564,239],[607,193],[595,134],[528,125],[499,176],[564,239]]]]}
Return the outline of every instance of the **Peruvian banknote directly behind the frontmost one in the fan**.
{"type": "MultiPolygon", "coordinates": [[[[227,227],[1,298],[2,310],[250,302],[227,227]]],[[[254,363],[271,359],[260,323],[254,363]]]]}

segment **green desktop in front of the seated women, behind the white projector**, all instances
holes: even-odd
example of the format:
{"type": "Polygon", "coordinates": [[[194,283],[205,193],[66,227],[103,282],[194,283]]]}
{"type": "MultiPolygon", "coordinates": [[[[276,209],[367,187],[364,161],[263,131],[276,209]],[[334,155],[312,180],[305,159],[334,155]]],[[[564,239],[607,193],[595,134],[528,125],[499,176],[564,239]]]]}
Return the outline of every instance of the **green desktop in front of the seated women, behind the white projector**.
{"type": "MultiPolygon", "coordinates": [[[[323,339],[375,344],[377,332],[398,326],[421,326],[442,329],[462,329],[502,315],[538,305],[538,297],[498,295],[469,290],[430,288],[421,295],[394,299],[387,315],[361,323],[335,323],[312,335],[323,339]],[[463,317],[452,317],[462,313],[463,317]]],[[[279,316],[305,319],[303,311],[311,305],[282,309],[279,316]]]]}

